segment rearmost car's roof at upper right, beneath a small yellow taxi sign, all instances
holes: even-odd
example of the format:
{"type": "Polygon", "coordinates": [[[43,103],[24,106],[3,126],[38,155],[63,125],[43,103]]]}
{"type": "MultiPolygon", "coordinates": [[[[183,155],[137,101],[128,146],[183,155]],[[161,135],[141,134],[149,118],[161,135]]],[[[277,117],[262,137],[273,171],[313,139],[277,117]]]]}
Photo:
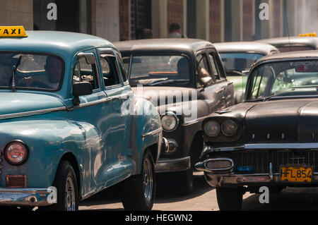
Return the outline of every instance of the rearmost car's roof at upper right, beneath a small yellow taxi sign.
{"type": "Polygon", "coordinates": [[[260,39],[256,42],[267,43],[278,48],[279,51],[306,51],[318,49],[318,37],[275,37],[260,39]]]}

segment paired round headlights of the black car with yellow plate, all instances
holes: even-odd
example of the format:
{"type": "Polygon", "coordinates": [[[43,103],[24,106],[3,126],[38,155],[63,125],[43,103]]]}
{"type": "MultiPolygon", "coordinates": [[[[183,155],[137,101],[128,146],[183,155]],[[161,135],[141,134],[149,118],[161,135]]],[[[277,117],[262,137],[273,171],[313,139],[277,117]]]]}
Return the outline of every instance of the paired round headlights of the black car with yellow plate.
{"type": "Polygon", "coordinates": [[[204,132],[210,137],[216,137],[221,132],[225,136],[233,136],[237,133],[238,125],[235,121],[226,120],[223,123],[218,123],[218,121],[208,121],[204,124],[204,132]]]}

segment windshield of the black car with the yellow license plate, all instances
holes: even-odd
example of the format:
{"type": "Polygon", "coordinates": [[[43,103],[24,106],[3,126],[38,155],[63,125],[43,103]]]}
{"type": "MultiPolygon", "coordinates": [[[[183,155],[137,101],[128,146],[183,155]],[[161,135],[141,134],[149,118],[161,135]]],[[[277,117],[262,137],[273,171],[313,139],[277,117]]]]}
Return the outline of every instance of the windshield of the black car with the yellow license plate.
{"type": "Polygon", "coordinates": [[[266,63],[252,71],[247,99],[317,95],[318,61],[266,63]]]}

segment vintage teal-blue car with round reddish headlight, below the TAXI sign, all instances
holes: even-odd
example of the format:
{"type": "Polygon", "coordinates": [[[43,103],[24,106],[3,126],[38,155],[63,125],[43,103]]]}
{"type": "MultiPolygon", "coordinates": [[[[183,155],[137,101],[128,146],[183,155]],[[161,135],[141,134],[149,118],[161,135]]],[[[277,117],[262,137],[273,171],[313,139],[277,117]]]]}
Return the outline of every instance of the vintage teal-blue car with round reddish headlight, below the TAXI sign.
{"type": "Polygon", "coordinates": [[[1,207],[76,210],[118,183],[125,209],[151,209],[160,117],[134,96],[119,51],[91,35],[27,35],[0,37],[1,207]]]}

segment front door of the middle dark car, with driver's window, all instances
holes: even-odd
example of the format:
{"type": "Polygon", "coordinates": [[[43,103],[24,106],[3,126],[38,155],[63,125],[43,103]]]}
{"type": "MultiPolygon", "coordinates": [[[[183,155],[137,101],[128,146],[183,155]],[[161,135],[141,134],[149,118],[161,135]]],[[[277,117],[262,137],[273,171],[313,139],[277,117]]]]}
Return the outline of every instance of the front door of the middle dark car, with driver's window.
{"type": "Polygon", "coordinates": [[[206,50],[198,51],[196,53],[196,90],[198,98],[204,99],[208,104],[209,114],[225,108],[223,87],[216,82],[210,67],[206,50]],[[210,78],[210,82],[202,83],[202,78],[210,78]]]}

